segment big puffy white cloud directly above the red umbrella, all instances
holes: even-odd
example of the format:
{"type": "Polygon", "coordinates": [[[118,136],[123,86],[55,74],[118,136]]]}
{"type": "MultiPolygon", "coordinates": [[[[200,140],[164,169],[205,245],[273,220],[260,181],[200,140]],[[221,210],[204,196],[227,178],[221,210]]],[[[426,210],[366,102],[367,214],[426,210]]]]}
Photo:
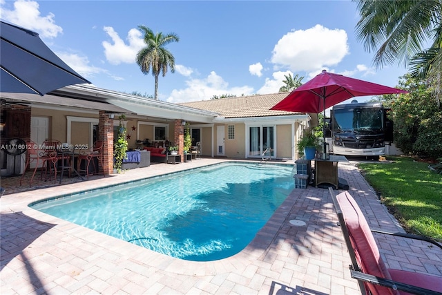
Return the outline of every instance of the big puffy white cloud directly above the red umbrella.
{"type": "Polygon", "coordinates": [[[320,25],[307,30],[293,30],[273,48],[271,62],[276,69],[313,72],[335,66],[349,53],[347,32],[320,25]]]}

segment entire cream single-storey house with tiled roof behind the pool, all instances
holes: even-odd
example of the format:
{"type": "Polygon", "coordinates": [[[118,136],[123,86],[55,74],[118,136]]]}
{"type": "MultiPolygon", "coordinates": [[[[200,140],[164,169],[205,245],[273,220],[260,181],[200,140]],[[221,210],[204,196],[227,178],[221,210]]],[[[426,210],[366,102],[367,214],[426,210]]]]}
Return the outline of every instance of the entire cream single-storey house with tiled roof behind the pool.
{"type": "MultiPolygon", "coordinates": [[[[172,104],[145,97],[74,85],[43,97],[0,93],[1,144],[12,138],[59,140],[93,146],[102,140],[105,173],[113,173],[113,141],[117,126],[127,128],[129,149],[145,144],[180,146],[189,126],[193,144],[200,142],[203,157],[296,159],[296,142],[316,114],[270,111],[288,93],[213,99],[172,104]],[[124,115],[124,120],[119,120],[124,115]],[[187,123],[187,124],[186,124],[187,123]]],[[[20,174],[24,153],[0,151],[1,175],[20,174]]]]}

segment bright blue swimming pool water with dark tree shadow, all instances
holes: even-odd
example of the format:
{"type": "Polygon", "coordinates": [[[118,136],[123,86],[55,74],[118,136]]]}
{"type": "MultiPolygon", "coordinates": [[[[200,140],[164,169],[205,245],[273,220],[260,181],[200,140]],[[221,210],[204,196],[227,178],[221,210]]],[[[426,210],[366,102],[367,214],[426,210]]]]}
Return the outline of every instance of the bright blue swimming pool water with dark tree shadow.
{"type": "Polygon", "coordinates": [[[176,258],[218,260],[244,249],[287,198],[292,169],[228,162],[30,207],[176,258]]]}

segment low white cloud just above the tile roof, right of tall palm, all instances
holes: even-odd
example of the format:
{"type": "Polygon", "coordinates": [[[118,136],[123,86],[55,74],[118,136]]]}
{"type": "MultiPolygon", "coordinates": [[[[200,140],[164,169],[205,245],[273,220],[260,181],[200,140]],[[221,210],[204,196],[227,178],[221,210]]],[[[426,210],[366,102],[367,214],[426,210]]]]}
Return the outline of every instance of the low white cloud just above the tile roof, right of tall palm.
{"type": "Polygon", "coordinates": [[[187,87],[184,89],[174,89],[166,99],[167,102],[195,102],[206,100],[213,95],[233,94],[237,96],[251,95],[253,88],[249,86],[229,87],[222,77],[212,71],[204,79],[189,79],[186,81],[187,87]]]}

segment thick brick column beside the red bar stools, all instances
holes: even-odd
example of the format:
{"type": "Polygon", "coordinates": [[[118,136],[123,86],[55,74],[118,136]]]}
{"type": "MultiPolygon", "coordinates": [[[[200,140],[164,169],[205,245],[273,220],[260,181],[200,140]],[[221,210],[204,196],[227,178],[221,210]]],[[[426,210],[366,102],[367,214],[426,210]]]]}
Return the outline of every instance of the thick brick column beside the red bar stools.
{"type": "Polygon", "coordinates": [[[99,111],[98,139],[103,142],[102,157],[104,175],[113,173],[113,119],[99,111]]]}

